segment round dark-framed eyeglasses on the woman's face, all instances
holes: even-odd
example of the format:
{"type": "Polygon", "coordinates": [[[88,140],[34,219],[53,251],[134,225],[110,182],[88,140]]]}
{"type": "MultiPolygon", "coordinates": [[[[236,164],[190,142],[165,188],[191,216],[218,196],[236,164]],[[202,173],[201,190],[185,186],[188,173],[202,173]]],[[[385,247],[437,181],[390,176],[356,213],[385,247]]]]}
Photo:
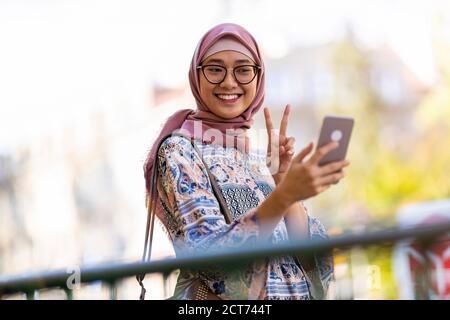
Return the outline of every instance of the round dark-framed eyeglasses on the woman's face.
{"type": "MultiPolygon", "coordinates": [[[[228,71],[224,66],[213,64],[198,66],[197,69],[202,69],[206,80],[212,84],[222,83],[223,80],[225,80],[228,71]]],[[[249,84],[255,79],[261,67],[256,65],[244,65],[230,69],[233,70],[234,79],[236,79],[237,83],[249,84]]]]}

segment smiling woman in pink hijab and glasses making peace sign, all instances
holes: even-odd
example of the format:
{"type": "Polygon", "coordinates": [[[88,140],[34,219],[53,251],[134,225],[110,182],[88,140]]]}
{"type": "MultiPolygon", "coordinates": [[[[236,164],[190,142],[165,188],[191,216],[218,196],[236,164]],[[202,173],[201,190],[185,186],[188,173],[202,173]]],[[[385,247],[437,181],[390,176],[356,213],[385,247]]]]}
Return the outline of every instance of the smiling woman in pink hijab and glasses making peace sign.
{"type": "MultiPolygon", "coordinates": [[[[294,156],[294,138],[286,135],[289,106],[279,134],[264,110],[267,154],[252,150],[247,130],[264,100],[264,77],[258,45],[241,26],[220,24],[200,40],[189,71],[197,110],[181,110],[168,119],[144,166],[152,210],[177,254],[326,237],[301,201],[342,179],[348,162],[318,166],[336,143],[308,160],[312,144],[294,156]],[[184,136],[167,137],[175,131],[184,136]]],[[[331,257],[309,260],[273,257],[239,271],[219,266],[181,270],[174,298],[324,298],[333,272],[331,257]]]]}

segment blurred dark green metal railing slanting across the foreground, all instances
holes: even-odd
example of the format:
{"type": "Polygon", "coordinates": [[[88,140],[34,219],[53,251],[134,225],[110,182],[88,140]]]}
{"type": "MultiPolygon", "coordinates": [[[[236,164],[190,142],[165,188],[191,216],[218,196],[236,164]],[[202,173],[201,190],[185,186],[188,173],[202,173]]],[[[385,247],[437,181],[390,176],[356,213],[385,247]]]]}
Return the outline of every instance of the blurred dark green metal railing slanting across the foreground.
{"type": "MultiPolygon", "coordinates": [[[[230,250],[216,250],[214,253],[195,256],[181,256],[150,262],[107,263],[80,268],[80,283],[102,281],[110,287],[110,299],[117,298],[116,284],[120,279],[140,274],[162,273],[167,276],[177,269],[201,269],[208,266],[221,265],[238,268],[243,264],[264,259],[268,256],[298,255],[308,256],[330,252],[333,249],[347,249],[355,246],[392,245],[393,243],[411,239],[426,249],[442,235],[450,232],[450,223],[421,226],[416,228],[393,228],[367,234],[339,235],[323,240],[307,240],[289,242],[282,245],[261,244],[230,250]]],[[[429,271],[429,270],[428,270],[429,271]]],[[[429,274],[429,272],[428,272],[429,274]]],[[[66,292],[67,298],[73,298],[68,280],[72,272],[55,270],[0,277],[0,298],[14,293],[24,293],[28,299],[35,297],[41,289],[60,288],[66,292]]],[[[430,282],[427,283],[427,285],[430,282]]],[[[137,285],[137,284],[136,284],[137,285]]],[[[138,286],[137,286],[138,287],[138,286]]]]}

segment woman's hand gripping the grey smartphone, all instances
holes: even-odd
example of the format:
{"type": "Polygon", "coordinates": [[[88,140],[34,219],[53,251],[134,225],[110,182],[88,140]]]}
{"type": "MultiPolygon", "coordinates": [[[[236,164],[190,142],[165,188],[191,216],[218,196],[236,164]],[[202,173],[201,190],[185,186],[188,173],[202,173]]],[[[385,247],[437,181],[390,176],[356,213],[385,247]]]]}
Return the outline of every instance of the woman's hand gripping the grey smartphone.
{"type": "Polygon", "coordinates": [[[305,161],[305,157],[313,149],[313,143],[310,143],[292,159],[285,178],[276,188],[278,195],[292,204],[316,196],[341,180],[345,176],[342,169],[350,164],[349,161],[342,160],[319,166],[319,161],[337,147],[337,142],[331,142],[317,149],[309,160],[305,161]]]}

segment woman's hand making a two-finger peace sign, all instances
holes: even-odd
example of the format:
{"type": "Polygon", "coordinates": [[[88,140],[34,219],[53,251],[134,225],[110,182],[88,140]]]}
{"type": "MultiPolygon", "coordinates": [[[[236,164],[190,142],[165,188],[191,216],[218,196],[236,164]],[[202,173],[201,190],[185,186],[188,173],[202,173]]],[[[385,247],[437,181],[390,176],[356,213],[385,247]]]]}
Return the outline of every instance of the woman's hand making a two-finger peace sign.
{"type": "Polygon", "coordinates": [[[290,111],[290,105],[286,105],[283,118],[281,119],[280,133],[277,134],[273,128],[269,109],[264,108],[267,135],[269,137],[267,144],[267,166],[276,185],[285,177],[294,156],[295,138],[286,135],[290,111]]]}

